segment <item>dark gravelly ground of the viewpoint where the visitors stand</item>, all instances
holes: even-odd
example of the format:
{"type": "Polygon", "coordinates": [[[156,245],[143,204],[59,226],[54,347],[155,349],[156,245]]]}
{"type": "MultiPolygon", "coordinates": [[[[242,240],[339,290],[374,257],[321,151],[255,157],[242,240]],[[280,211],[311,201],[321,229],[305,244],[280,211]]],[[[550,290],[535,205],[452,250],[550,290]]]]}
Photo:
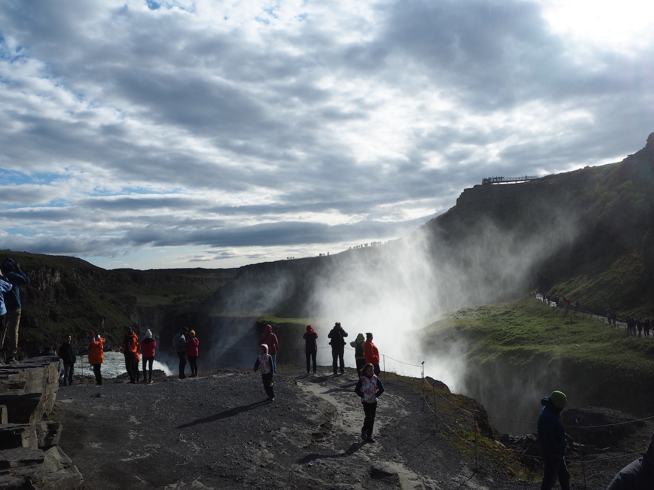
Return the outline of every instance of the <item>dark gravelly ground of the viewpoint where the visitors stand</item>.
{"type": "MultiPolygon", "coordinates": [[[[111,380],[62,387],[54,418],[87,490],[540,488],[528,472],[521,480],[507,471],[500,446],[479,448],[475,463],[470,444],[443,423],[435,430],[420,391],[396,376],[379,400],[377,442],[362,442],[355,383],[354,370],[280,367],[269,403],[251,371],[145,385],[111,380]]],[[[585,476],[587,488],[605,489],[636,458],[623,454],[644,450],[651,431],[642,423],[608,453],[613,459],[587,462],[583,472],[571,464],[574,487],[583,488],[585,476]]]]}

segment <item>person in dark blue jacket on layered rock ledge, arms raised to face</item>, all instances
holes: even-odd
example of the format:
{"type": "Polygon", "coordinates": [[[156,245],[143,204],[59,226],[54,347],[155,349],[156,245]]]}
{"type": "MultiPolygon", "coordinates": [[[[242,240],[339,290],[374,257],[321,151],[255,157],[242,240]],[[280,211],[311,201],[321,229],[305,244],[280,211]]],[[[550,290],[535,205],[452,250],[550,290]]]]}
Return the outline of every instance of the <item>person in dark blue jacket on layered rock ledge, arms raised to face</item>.
{"type": "Polygon", "coordinates": [[[30,284],[30,280],[20,270],[20,265],[9,257],[0,265],[0,270],[12,285],[11,289],[3,294],[7,307],[7,318],[4,329],[2,328],[3,323],[0,323],[0,330],[3,332],[0,346],[5,350],[7,363],[18,364],[16,353],[18,352],[18,327],[20,326],[20,286],[30,284]],[[7,341],[6,345],[5,340],[7,341]]]}

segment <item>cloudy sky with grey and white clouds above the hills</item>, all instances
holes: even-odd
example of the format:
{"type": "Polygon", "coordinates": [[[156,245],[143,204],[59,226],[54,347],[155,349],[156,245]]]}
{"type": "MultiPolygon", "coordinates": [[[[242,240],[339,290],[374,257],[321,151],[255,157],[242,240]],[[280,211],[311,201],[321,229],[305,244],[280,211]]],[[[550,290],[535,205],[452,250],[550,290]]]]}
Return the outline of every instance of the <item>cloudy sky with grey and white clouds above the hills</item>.
{"type": "Polygon", "coordinates": [[[0,248],[238,267],[654,131],[642,0],[0,3],[0,248]]]}

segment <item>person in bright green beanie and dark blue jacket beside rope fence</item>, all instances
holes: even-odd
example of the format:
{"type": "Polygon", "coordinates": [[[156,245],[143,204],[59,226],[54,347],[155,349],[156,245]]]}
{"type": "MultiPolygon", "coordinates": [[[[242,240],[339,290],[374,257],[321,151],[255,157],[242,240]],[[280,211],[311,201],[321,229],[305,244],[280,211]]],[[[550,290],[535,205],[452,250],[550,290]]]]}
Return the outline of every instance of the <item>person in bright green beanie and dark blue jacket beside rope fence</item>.
{"type": "Polygon", "coordinates": [[[561,412],[568,404],[562,391],[553,391],[549,397],[540,399],[543,409],[538,417],[538,445],[543,458],[543,483],[541,490],[550,490],[557,483],[561,490],[570,490],[570,472],[565,455],[568,448],[568,434],[561,421],[561,412]]]}

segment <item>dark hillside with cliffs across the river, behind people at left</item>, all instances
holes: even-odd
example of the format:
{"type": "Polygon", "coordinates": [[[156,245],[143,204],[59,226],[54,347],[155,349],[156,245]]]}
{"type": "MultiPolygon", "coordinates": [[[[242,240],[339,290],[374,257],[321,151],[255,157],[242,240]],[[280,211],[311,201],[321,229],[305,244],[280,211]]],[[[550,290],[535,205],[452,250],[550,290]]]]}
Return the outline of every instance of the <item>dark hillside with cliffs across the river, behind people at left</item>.
{"type": "Polygon", "coordinates": [[[3,250],[31,280],[21,286],[19,357],[43,346],[57,350],[70,333],[78,353],[99,329],[107,348],[118,348],[124,327],[154,332],[163,317],[205,299],[230,280],[230,270],[105,270],[75,257],[3,250]]]}

